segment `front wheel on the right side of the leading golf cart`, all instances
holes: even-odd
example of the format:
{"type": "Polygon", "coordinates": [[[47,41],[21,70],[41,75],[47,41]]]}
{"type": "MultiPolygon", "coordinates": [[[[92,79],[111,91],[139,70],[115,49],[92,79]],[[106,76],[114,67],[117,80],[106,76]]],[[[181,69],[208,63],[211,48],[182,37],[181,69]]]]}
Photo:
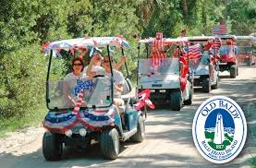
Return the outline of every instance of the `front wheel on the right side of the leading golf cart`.
{"type": "Polygon", "coordinates": [[[101,150],[106,159],[115,160],[119,154],[119,136],[116,128],[101,133],[101,150]]]}

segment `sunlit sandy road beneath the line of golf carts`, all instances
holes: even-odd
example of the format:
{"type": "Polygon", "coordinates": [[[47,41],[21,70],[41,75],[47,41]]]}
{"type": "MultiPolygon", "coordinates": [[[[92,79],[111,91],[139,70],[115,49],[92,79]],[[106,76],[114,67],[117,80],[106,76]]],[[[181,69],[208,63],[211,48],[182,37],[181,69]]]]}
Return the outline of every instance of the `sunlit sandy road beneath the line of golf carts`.
{"type": "Polygon", "coordinates": [[[45,162],[42,154],[43,128],[31,127],[8,138],[0,139],[0,167],[217,167],[204,160],[196,150],[191,133],[193,116],[204,100],[213,95],[226,95],[240,104],[249,126],[244,150],[222,167],[248,167],[251,154],[256,156],[256,67],[242,67],[236,79],[221,73],[220,88],[211,93],[195,90],[194,102],[180,112],[154,110],[149,112],[146,139],[140,144],[125,142],[116,161],[104,160],[95,144],[87,150],[66,149],[63,160],[45,162]],[[254,104],[252,103],[254,102],[254,104]]]}

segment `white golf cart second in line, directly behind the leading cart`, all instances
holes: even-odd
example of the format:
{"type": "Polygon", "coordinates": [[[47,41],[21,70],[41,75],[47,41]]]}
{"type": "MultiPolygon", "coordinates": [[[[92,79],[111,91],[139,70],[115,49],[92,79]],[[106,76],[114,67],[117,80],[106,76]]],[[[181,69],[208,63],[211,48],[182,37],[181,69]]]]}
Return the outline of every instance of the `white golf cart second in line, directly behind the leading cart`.
{"type": "Polygon", "coordinates": [[[140,40],[137,89],[150,89],[156,106],[180,111],[182,104],[192,103],[192,85],[188,62],[184,59],[186,39],[156,38],[140,40]]]}

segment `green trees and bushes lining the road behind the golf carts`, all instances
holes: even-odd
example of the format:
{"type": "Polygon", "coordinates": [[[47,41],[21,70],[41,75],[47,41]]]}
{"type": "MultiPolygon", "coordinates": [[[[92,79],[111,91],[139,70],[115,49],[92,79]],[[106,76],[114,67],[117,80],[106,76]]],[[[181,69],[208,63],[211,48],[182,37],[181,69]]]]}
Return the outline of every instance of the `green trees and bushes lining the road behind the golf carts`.
{"type": "MultiPolygon", "coordinates": [[[[23,116],[44,103],[47,58],[44,42],[122,34],[130,42],[128,69],[135,78],[138,40],[163,31],[165,37],[210,35],[225,21],[232,33],[255,30],[255,0],[2,0],[0,3],[0,114],[23,116]],[[253,24],[254,23],[254,24],[253,24]]],[[[69,58],[57,60],[55,78],[70,70],[69,58]]]]}

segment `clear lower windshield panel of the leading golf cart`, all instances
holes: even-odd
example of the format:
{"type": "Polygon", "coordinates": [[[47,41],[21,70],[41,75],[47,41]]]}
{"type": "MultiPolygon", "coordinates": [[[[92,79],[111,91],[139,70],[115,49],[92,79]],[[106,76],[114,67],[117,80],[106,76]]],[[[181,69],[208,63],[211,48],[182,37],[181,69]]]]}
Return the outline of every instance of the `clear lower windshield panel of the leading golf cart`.
{"type": "Polygon", "coordinates": [[[82,90],[81,107],[91,108],[109,106],[111,104],[111,78],[93,78],[85,80],[64,79],[49,82],[49,102],[50,109],[74,108],[78,101],[79,90],[82,90]],[[99,96],[101,95],[101,96],[99,96]]]}

